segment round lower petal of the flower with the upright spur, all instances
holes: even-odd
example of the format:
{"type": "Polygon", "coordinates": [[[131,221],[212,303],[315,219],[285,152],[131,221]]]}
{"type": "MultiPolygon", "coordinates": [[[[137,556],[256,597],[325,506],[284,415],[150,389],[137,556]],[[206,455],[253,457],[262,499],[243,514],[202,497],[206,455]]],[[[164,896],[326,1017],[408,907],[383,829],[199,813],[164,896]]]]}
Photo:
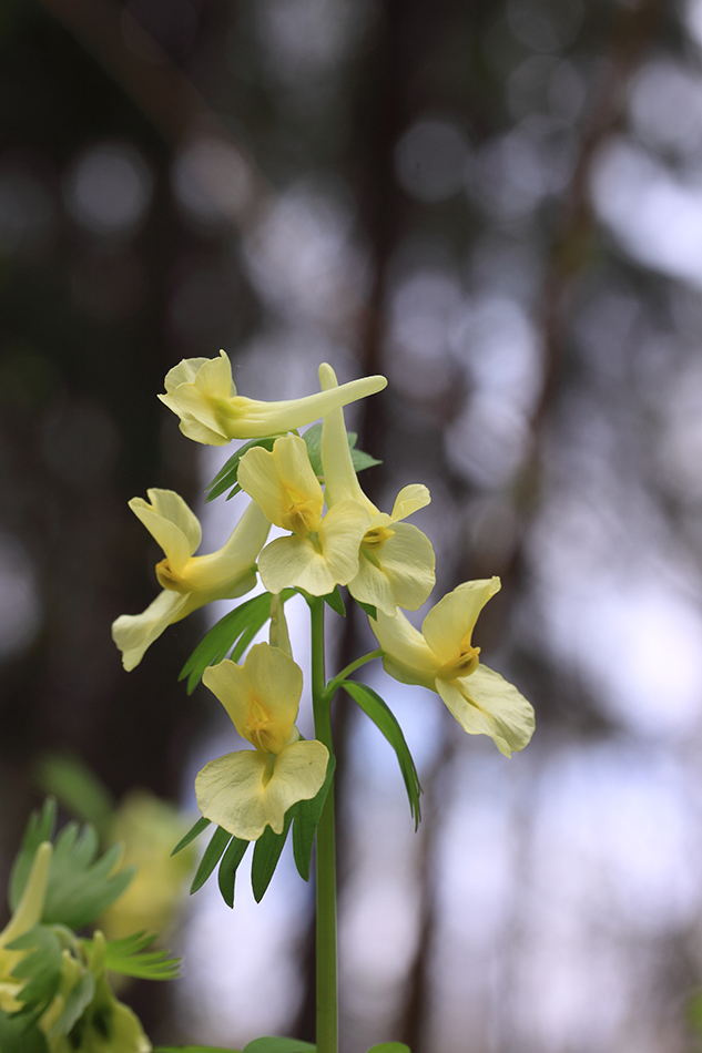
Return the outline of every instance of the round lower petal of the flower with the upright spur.
{"type": "Polygon", "coordinates": [[[398,606],[420,607],[435,584],[436,558],[426,534],[411,523],[395,523],[393,535],[373,555],[377,566],[362,546],[358,574],[348,586],[352,596],[390,616],[398,606]]]}

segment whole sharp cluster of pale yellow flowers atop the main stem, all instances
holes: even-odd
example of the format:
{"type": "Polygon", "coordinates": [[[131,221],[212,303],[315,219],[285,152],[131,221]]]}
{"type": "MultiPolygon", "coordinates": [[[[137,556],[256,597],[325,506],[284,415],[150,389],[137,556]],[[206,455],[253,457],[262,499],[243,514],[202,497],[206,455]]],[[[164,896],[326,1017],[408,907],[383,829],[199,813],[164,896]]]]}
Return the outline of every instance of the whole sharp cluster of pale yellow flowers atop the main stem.
{"type": "Polygon", "coordinates": [[[358,482],[343,409],[381,390],[385,378],[339,386],[323,364],[319,381],[321,390],[306,398],[261,402],[237,395],[224,352],[181,362],[160,398],[196,442],[253,440],[235,458],[236,487],[251,503],[222,549],[195,555],[200,523],[177,494],[150,490],[149,501],[130,502],[165,558],[155,569],[160,595],[142,614],[114,622],[125,668],[141,662],[169,624],[211,600],[243,596],[257,574],[271,594],[271,643],[251,647],[243,664],[218,661],[202,677],[254,749],[205,765],[195,781],[197,802],[205,819],[244,840],[256,840],[268,826],[281,834],[288,810],[314,799],[327,771],[327,747],[303,740],[295,726],[303,674],[289,654],[285,590],[328,597],[346,586],[372,610],[386,672],[436,692],[468,734],[489,735],[505,755],[523,748],[533,730],[529,703],[480,663],[472,643],[498,579],[459,585],[431,609],[421,632],[403,613],[417,611],[435,585],[431,543],[406,522],[429,503],[429,491],[408,485],[391,511],[376,508],[358,482]],[[297,429],[317,418],[323,423],[313,450],[309,436],[297,429]],[[266,543],[271,524],[285,535],[266,543]]]}

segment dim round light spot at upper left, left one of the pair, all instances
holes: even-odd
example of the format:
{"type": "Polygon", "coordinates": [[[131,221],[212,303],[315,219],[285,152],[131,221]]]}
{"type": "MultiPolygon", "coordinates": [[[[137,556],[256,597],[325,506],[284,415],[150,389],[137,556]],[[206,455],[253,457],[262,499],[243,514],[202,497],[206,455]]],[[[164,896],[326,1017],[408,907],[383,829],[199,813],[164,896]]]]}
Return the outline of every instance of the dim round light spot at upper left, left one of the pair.
{"type": "Polygon", "coordinates": [[[151,203],[153,177],[128,144],[93,146],[68,175],[65,197],[73,218],[95,234],[133,233],[151,203]]]}

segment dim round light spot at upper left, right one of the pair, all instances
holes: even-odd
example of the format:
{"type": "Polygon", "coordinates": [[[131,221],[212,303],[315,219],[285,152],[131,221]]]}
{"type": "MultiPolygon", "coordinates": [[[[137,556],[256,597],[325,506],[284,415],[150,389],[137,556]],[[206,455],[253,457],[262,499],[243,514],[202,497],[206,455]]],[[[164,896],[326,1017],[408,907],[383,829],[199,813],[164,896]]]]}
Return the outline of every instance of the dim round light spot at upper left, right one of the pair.
{"type": "Polygon", "coordinates": [[[232,143],[212,136],[187,145],[173,166],[179,204],[205,223],[238,219],[251,202],[253,182],[243,154],[232,143]]]}

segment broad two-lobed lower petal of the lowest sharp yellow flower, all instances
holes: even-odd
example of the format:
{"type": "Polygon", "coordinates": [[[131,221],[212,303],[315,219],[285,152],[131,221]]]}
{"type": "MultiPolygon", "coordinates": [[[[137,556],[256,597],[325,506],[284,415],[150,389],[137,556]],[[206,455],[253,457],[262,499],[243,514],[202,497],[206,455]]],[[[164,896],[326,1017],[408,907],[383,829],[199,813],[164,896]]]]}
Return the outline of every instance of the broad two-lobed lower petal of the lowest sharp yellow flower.
{"type": "Polygon", "coordinates": [[[206,819],[244,840],[256,840],[266,826],[281,834],[285,812],[322,789],[328,753],[322,743],[297,742],[275,759],[264,785],[267,759],[254,750],[211,760],[195,778],[197,807],[206,819]]]}

